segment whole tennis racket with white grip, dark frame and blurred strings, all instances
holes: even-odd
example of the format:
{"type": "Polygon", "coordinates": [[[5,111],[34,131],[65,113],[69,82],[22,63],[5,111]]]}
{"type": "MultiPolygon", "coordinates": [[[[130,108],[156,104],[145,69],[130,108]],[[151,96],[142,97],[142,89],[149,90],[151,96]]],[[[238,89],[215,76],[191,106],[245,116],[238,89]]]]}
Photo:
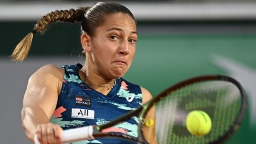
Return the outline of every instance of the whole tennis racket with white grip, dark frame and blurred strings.
{"type": "MultiPolygon", "coordinates": [[[[222,143],[238,130],[246,107],[245,91],[235,79],[223,75],[199,76],[169,87],[119,119],[100,126],[64,130],[62,140],[68,143],[120,137],[137,143],[222,143]],[[185,119],[193,110],[204,111],[210,116],[212,129],[207,135],[194,136],[188,132],[185,119]],[[104,132],[133,116],[139,116],[139,137],[104,132]]],[[[35,142],[38,142],[36,136],[35,142]]]]}

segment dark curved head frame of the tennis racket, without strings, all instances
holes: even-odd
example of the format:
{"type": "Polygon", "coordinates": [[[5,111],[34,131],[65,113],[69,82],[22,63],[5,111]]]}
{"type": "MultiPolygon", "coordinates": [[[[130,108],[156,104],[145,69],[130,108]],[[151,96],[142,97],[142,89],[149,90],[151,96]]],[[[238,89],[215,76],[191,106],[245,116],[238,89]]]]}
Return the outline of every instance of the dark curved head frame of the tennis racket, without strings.
{"type": "Polygon", "coordinates": [[[140,113],[140,121],[142,121],[142,122],[140,122],[138,124],[139,136],[144,137],[143,132],[142,132],[142,127],[144,124],[143,121],[144,121],[146,114],[148,113],[150,108],[153,107],[153,105],[155,103],[160,101],[161,98],[165,97],[169,93],[171,93],[173,91],[177,91],[180,88],[183,88],[185,85],[194,84],[196,82],[202,82],[202,81],[231,82],[232,84],[236,85],[236,87],[239,89],[239,92],[241,94],[241,107],[240,107],[238,116],[236,116],[235,122],[233,123],[233,125],[231,127],[229,127],[229,130],[225,133],[225,135],[222,135],[221,137],[219,137],[219,139],[217,139],[213,142],[210,142],[210,143],[223,143],[223,142],[225,142],[225,140],[229,139],[233,135],[233,133],[235,133],[236,130],[238,130],[239,127],[241,127],[242,120],[244,119],[244,116],[247,111],[247,96],[246,96],[247,94],[246,94],[244,88],[242,87],[242,85],[238,81],[236,81],[236,79],[233,79],[230,76],[226,76],[226,75],[204,75],[204,76],[197,76],[194,78],[190,78],[185,81],[181,81],[178,84],[172,85],[171,87],[165,89],[165,91],[162,91],[156,97],[153,97],[152,100],[148,101],[148,103],[146,103],[145,105],[142,105],[143,109],[142,109],[142,112],[140,113]]]}

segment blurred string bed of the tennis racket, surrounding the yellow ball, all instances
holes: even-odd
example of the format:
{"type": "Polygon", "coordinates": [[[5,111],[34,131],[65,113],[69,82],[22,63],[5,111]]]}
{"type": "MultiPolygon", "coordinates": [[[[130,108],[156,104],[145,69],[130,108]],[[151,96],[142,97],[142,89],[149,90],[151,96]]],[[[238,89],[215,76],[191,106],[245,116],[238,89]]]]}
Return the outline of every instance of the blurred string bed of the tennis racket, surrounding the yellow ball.
{"type": "Polygon", "coordinates": [[[171,92],[155,104],[158,143],[209,143],[219,139],[234,123],[241,107],[239,89],[231,82],[205,81],[171,92]],[[212,119],[206,136],[193,136],[185,126],[187,114],[203,110],[212,119]]]}

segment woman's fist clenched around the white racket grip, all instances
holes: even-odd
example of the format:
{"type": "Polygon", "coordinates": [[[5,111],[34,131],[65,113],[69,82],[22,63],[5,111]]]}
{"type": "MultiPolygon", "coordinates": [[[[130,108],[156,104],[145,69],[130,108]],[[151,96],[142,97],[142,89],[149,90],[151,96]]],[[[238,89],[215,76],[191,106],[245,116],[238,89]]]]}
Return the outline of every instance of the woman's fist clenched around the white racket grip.
{"type": "Polygon", "coordinates": [[[59,125],[47,123],[37,125],[36,133],[40,144],[62,143],[62,128],[59,125]]]}

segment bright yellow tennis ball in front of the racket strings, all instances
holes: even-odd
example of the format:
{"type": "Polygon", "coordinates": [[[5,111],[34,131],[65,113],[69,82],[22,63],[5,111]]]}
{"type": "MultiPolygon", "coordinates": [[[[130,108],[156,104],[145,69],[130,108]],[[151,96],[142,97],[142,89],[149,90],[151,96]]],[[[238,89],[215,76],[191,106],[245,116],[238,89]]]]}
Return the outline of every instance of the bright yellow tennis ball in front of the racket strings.
{"type": "Polygon", "coordinates": [[[212,128],[212,120],[207,113],[200,110],[191,111],[186,119],[186,126],[190,133],[195,136],[204,136],[212,128]]]}

